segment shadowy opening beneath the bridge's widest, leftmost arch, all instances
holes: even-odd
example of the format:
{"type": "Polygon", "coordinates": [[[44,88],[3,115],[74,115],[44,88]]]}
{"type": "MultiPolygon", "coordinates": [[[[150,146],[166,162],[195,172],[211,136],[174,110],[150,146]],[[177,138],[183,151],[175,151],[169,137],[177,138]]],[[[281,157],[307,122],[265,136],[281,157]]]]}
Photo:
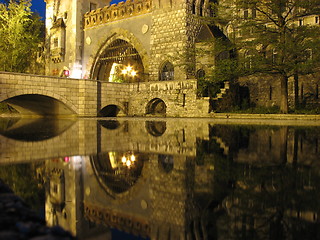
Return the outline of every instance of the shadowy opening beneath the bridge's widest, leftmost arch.
{"type": "Polygon", "coordinates": [[[24,94],[8,98],[3,103],[16,109],[24,115],[73,115],[75,112],[65,103],[44,95],[24,94]]]}

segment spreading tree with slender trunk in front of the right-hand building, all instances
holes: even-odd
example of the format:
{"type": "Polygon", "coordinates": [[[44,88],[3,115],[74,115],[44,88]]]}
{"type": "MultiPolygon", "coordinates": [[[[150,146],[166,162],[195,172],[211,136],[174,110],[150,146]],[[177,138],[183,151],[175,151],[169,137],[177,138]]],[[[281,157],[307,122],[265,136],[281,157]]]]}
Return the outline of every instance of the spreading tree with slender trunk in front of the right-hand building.
{"type": "Polygon", "coordinates": [[[227,27],[228,48],[237,52],[237,58],[220,61],[215,72],[273,75],[281,85],[280,111],[288,113],[288,79],[319,71],[320,28],[304,24],[302,17],[319,14],[320,1],[224,0],[213,8],[213,23],[227,27]]]}

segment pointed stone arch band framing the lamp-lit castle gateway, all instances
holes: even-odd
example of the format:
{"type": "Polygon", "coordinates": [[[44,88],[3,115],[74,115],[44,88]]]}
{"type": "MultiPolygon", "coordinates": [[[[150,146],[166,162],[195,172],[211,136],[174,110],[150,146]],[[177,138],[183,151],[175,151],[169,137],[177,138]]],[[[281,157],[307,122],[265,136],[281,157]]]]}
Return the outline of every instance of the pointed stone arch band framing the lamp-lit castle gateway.
{"type": "Polygon", "coordinates": [[[143,67],[144,67],[144,75],[148,75],[149,71],[149,55],[146,49],[143,47],[142,43],[139,41],[137,37],[134,36],[131,32],[122,29],[122,28],[115,28],[110,31],[109,36],[104,40],[104,42],[98,46],[97,53],[95,56],[90,57],[88,64],[90,65],[88,69],[90,69],[90,78],[94,79],[95,69],[97,69],[97,64],[99,62],[100,56],[103,52],[108,48],[108,46],[114,42],[115,40],[124,40],[130,43],[138,52],[143,67]]]}

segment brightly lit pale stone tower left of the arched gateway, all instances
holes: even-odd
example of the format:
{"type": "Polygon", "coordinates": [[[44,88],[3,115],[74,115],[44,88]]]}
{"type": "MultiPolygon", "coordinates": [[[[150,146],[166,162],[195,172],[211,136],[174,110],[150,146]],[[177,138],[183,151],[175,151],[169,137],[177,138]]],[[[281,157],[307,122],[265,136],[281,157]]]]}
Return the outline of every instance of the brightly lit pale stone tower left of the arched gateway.
{"type": "Polygon", "coordinates": [[[110,0],[45,0],[46,74],[82,78],[83,16],[110,0]]]}

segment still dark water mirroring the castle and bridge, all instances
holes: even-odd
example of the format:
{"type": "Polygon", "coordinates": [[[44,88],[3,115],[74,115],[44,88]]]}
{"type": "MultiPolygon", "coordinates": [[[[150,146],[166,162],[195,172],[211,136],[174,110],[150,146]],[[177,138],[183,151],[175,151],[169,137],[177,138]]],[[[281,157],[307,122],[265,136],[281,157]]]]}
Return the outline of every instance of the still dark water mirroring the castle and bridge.
{"type": "Polygon", "coordinates": [[[320,124],[0,119],[0,178],[78,239],[319,239],[320,124]]]}

